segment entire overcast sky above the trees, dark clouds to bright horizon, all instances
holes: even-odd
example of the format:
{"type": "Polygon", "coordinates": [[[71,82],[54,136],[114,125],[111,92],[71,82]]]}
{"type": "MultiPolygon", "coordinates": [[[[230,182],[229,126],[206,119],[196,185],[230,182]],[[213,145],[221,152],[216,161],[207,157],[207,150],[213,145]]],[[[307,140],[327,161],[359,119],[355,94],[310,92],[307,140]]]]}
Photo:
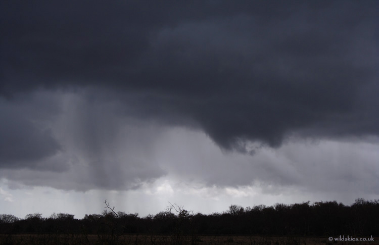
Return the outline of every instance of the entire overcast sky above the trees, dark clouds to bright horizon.
{"type": "Polygon", "coordinates": [[[378,9],[1,1],[0,213],[379,199],[378,9]]]}

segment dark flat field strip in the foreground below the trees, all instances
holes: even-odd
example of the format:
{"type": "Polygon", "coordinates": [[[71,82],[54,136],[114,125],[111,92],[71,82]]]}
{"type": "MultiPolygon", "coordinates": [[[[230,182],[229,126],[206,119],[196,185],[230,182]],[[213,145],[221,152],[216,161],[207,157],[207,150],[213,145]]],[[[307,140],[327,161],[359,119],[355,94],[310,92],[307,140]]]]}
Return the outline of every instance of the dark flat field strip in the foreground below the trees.
{"type": "MultiPolygon", "coordinates": [[[[347,236],[345,236],[347,237],[347,236]]],[[[360,238],[360,237],[354,237],[360,238]]],[[[368,237],[363,237],[368,238],[368,237]]],[[[85,235],[85,234],[18,234],[0,235],[0,244],[199,244],[199,245],[287,245],[287,244],[379,244],[379,237],[373,241],[329,241],[328,237],[300,237],[300,236],[242,236],[242,235],[85,235]]]]}

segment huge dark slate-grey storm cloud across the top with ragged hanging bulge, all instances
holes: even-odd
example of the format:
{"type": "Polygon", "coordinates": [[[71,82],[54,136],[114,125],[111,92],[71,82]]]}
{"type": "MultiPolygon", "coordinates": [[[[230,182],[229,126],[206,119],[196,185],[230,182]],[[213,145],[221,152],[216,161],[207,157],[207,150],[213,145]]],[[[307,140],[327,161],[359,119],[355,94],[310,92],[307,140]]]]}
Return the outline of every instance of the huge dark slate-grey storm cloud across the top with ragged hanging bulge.
{"type": "Polygon", "coordinates": [[[191,121],[242,151],[379,133],[376,1],[1,5],[8,99],[107,88],[136,117],[191,121]]]}

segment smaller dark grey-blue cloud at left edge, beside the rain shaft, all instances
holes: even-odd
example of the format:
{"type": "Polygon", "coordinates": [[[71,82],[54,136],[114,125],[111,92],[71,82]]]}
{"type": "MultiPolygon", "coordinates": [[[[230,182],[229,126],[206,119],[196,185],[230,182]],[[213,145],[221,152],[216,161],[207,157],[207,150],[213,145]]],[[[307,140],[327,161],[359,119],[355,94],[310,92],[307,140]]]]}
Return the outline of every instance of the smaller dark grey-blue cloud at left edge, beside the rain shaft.
{"type": "Polygon", "coordinates": [[[41,105],[40,99],[48,99],[43,93],[39,99],[0,100],[0,167],[37,168],[40,170],[62,170],[64,164],[44,163],[61,151],[61,145],[53,137],[49,122],[54,108],[52,104],[41,105]],[[32,116],[33,115],[33,116],[32,116]]]}

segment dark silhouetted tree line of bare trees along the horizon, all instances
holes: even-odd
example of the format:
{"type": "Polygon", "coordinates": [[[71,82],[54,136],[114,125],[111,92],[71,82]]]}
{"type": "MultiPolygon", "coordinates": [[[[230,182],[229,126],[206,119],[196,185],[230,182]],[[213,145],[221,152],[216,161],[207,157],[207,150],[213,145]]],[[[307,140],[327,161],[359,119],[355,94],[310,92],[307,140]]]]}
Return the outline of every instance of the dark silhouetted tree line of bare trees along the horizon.
{"type": "Polygon", "coordinates": [[[352,205],[333,202],[256,205],[230,205],[222,213],[194,214],[183,206],[170,204],[166,210],[139,217],[137,213],[116,211],[106,201],[102,214],[88,214],[75,219],[72,214],[40,213],[19,219],[11,214],[0,215],[1,234],[170,234],[180,239],[185,235],[258,234],[369,236],[379,233],[379,200],[356,199],[352,205]]]}

